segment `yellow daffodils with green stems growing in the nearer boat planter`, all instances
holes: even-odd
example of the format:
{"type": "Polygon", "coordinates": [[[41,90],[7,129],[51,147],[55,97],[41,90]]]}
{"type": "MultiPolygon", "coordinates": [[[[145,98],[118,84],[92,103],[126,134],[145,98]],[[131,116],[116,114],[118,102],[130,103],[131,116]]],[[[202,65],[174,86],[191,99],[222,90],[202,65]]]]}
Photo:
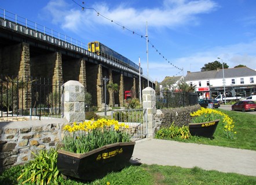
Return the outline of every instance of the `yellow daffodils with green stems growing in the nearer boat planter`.
{"type": "Polygon", "coordinates": [[[63,149],[86,153],[116,142],[129,142],[129,126],[116,120],[98,119],[64,127],[63,149]]]}

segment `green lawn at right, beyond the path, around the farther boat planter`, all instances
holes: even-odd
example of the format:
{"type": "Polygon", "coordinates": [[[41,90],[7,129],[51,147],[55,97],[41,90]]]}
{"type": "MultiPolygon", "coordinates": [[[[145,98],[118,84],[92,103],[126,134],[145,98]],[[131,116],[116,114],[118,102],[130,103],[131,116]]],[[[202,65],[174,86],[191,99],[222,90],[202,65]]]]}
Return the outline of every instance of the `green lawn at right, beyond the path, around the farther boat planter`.
{"type": "Polygon", "coordinates": [[[192,137],[190,139],[172,139],[182,142],[193,142],[197,144],[225,146],[230,148],[240,148],[248,150],[256,150],[255,133],[256,133],[256,115],[247,114],[244,112],[225,111],[229,117],[235,121],[234,130],[237,132],[236,139],[231,140],[225,137],[222,130],[221,122],[218,124],[214,133],[214,139],[203,137],[192,137]]]}

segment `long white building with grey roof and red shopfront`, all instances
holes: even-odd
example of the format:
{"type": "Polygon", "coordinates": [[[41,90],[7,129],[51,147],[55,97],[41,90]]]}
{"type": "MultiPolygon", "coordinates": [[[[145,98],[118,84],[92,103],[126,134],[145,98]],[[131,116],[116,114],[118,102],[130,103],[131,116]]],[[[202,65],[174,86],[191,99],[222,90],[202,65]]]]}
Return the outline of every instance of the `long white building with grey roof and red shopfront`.
{"type": "Polygon", "coordinates": [[[227,97],[247,97],[256,93],[256,71],[248,67],[224,69],[224,77],[222,69],[193,73],[188,71],[185,81],[189,85],[196,85],[199,97],[215,98],[223,94],[224,83],[227,97]]]}

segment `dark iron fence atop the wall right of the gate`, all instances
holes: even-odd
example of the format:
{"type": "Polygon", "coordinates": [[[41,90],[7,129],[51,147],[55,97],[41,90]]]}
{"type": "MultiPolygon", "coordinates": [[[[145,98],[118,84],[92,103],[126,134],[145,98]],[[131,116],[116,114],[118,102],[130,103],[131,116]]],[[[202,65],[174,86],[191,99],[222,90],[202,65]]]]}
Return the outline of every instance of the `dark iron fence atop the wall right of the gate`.
{"type": "Polygon", "coordinates": [[[171,92],[162,90],[156,92],[156,108],[187,107],[198,104],[198,94],[191,92],[171,92]]]}

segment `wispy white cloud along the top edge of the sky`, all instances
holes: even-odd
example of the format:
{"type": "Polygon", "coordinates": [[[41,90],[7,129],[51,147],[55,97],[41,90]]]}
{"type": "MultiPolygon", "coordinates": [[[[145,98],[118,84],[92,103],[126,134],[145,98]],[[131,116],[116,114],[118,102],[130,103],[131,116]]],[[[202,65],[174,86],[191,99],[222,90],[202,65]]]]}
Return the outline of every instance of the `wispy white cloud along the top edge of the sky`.
{"type": "MultiPolygon", "coordinates": [[[[130,29],[145,29],[145,22],[150,22],[151,27],[174,28],[184,24],[198,24],[198,15],[209,13],[217,7],[217,4],[210,0],[186,1],[186,0],[165,0],[162,7],[153,9],[135,9],[120,3],[114,9],[109,3],[97,2],[93,5],[104,17],[108,17],[118,24],[130,29]]],[[[96,24],[113,26],[110,20],[101,16],[97,17],[94,10],[70,5],[64,0],[52,0],[45,7],[47,13],[52,16],[52,22],[61,24],[62,28],[71,31],[87,30],[95,27],[96,24]],[[64,21],[63,21],[64,20],[64,21]]]]}

